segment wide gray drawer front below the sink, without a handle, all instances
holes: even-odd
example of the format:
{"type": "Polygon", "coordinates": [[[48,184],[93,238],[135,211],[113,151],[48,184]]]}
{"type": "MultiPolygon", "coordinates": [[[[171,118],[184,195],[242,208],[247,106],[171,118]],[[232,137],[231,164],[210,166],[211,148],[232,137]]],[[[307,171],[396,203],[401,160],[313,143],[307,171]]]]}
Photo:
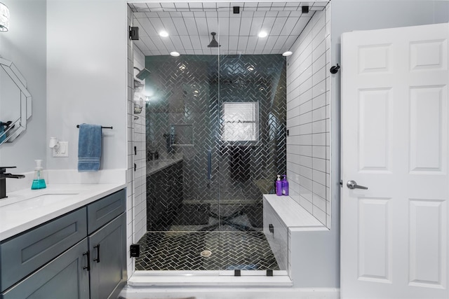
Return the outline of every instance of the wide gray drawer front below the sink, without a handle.
{"type": "Polygon", "coordinates": [[[0,244],[1,291],[86,236],[86,208],[82,208],[0,244]]]}

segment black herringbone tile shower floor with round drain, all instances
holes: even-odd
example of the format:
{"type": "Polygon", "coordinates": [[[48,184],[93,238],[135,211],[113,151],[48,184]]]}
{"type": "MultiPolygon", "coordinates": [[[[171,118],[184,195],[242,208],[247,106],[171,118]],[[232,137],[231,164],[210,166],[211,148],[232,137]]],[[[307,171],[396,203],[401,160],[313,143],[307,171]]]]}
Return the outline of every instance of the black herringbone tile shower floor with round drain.
{"type": "Polygon", "coordinates": [[[139,244],[136,270],[279,270],[263,232],[147,232],[139,244]]]}

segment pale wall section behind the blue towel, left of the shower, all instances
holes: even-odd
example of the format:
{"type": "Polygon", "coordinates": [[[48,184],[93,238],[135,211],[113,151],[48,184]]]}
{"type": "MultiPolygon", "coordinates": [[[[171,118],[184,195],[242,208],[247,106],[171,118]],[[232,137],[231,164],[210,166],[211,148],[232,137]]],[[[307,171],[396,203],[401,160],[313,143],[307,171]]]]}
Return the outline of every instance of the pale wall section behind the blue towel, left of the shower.
{"type": "Polygon", "coordinates": [[[102,132],[100,169],[126,169],[128,26],[125,0],[47,1],[47,137],[69,141],[50,169],[77,169],[76,125],[102,132]]]}

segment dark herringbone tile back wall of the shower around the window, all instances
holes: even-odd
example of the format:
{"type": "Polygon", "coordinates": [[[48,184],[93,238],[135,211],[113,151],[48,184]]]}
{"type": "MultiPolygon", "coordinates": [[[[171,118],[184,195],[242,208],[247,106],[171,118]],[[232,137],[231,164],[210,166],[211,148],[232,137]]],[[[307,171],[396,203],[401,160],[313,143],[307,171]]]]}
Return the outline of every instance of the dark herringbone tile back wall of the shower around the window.
{"type": "MultiPolygon", "coordinates": [[[[286,173],[285,58],[150,56],[145,64],[147,157],[157,151],[161,160],[183,158],[182,176],[174,180],[182,188],[158,193],[165,214],[148,202],[147,230],[217,230],[229,223],[260,230],[262,194],[274,193],[276,174],[286,173]],[[256,141],[222,140],[225,102],[258,103],[256,141]],[[241,214],[248,223],[238,223],[241,214]]],[[[152,182],[166,186],[166,179],[152,182]]],[[[150,186],[148,198],[154,197],[150,186]]]]}

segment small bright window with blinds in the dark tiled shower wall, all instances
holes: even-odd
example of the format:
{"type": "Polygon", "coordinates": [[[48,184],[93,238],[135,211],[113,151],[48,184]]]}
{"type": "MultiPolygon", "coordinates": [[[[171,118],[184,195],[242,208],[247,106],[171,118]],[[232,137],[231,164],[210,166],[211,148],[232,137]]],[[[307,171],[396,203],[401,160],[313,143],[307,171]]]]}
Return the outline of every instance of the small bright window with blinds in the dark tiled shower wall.
{"type": "Polygon", "coordinates": [[[222,141],[257,141],[259,102],[224,102],[222,120],[222,141]]]}

